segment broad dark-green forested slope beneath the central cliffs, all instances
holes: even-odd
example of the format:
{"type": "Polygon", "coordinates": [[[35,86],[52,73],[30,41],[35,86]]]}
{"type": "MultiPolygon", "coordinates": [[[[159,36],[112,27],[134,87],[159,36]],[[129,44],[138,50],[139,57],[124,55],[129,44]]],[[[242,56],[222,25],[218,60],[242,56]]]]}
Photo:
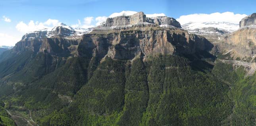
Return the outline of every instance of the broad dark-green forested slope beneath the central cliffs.
{"type": "Polygon", "coordinates": [[[231,115],[228,91],[227,84],[192,69],[184,57],[157,55],[145,63],[107,57],[69,107],[40,121],[52,126],[216,126],[231,115]]]}

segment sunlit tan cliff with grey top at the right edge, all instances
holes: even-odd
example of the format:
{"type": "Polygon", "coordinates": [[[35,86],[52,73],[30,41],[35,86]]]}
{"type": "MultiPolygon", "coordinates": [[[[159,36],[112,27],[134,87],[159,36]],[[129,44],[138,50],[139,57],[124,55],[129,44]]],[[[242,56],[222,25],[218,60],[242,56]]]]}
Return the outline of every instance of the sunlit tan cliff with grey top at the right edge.
{"type": "Polygon", "coordinates": [[[221,52],[233,59],[253,61],[256,54],[256,13],[240,21],[240,29],[224,37],[218,44],[221,52]]]}

